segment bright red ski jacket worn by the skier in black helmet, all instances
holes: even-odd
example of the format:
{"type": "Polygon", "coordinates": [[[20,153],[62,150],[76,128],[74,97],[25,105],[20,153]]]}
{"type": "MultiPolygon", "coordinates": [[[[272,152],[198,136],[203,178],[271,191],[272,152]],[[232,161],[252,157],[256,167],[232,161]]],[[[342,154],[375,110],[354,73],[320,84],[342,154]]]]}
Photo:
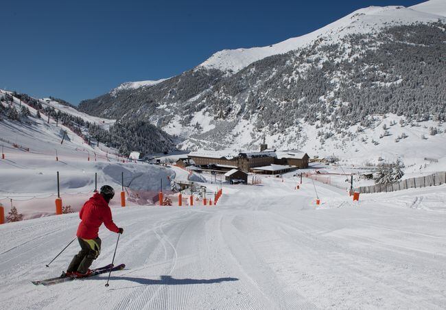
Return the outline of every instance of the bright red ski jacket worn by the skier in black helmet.
{"type": "Polygon", "coordinates": [[[99,226],[104,223],[106,228],[119,233],[119,228],[113,222],[110,206],[100,193],[95,193],[92,198],[85,202],[79,213],[80,222],[76,235],[82,239],[96,239],[99,226]]]}

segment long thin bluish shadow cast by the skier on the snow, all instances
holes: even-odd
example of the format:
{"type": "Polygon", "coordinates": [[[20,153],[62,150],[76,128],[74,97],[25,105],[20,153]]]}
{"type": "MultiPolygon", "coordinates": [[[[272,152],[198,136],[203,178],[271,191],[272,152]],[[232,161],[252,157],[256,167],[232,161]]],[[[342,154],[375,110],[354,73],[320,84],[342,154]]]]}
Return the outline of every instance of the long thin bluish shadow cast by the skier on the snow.
{"type": "MultiPolygon", "coordinates": [[[[99,278],[97,279],[99,280],[99,278]]],[[[101,279],[103,280],[103,279],[101,279]]],[[[231,281],[239,281],[238,278],[210,278],[210,279],[193,279],[193,278],[172,278],[172,276],[161,276],[160,279],[151,279],[151,278],[134,278],[130,276],[110,276],[110,281],[113,280],[125,280],[131,281],[134,283],[139,283],[142,285],[191,285],[191,284],[211,284],[211,283],[222,283],[222,282],[231,282],[231,281]]],[[[130,288],[130,287],[121,287],[121,288],[130,288]]]]}

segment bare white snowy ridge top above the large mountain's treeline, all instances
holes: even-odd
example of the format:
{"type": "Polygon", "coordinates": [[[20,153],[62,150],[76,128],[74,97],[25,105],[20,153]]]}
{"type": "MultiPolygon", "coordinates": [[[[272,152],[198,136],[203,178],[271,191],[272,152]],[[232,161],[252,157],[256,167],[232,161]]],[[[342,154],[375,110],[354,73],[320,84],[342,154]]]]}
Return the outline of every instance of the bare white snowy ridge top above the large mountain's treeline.
{"type": "Polygon", "coordinates": [[[199,67],[235,73],[257,60],[307,47],[316,41],[325,44],[338,43],[340,38],[348,34],[376,33],[383,27],[391,25],[434,22],[438,19],[444,19],[445,11],[444,0],[431,0],[410,8],[404,8],[403,6],[362,8],[314,32],[290,38],[268,47],[218,51],[200,64],[199,67]]]}

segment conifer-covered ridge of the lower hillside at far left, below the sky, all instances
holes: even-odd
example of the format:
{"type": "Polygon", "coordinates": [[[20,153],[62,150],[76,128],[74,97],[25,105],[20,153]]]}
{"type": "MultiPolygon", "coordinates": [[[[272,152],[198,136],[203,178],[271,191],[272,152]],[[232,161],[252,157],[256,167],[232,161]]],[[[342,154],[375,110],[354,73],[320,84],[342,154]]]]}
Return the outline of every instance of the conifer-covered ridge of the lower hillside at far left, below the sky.
{"type": "Polygon", "coordinates": [[[0,90],[0,117],[16,121],[20,126],[41,121],[40,113],[43,113],[45,117],[54,119],[56,124],[60,123],[78,134],[84,141],[100,141],[108,147],[114,147],[124,156],[134,150],[147,156],[175,148],[174,137],[149,121],[130,119],[116,122],[115,119],[88,115],[62,99],[51,98],[36,99],[27,94],[0,90]],[[13,106],[14,102],[19,105],[13,106]],[[27,110],[27,106],[33,112],[27,110]]]}

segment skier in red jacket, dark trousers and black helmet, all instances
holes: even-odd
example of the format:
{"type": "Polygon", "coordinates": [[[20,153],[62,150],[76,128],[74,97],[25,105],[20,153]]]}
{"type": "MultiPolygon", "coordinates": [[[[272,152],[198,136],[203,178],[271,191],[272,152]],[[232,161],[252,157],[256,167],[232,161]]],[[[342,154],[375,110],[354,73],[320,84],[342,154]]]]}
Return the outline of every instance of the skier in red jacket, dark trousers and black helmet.
{"type": "Polygon", "coordinates": [[[97,259],[101,251],[101,239],[99,239],[97,233],[99,233],[99,226],[102,223],[110,231],[119,234],[124,233],[124,229],[118,228],[113,222],[110,206],[108,206],[114,195],[113,187],[104,185],[101,187],[100,193],[95,193],[82,206],[82,210],[79,213],[82,221],[76,233],[81,250],[73,257],[67,272],[62,274],[62,276],[82,278],[92,273],[89,267],[97,259]]]}

